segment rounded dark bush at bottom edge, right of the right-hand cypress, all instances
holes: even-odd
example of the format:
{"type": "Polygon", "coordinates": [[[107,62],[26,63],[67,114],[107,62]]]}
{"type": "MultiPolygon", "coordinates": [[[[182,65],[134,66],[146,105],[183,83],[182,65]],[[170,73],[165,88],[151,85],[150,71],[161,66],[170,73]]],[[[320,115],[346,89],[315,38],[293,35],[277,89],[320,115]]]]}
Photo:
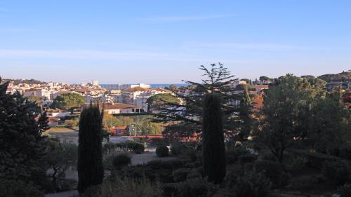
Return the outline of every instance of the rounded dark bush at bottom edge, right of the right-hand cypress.
{"type": "Polygon", "coordinates": [[[246,172],[237,177],[234,193],[237,197],[266,197],[271,183],[261,172],[246,172]]]}

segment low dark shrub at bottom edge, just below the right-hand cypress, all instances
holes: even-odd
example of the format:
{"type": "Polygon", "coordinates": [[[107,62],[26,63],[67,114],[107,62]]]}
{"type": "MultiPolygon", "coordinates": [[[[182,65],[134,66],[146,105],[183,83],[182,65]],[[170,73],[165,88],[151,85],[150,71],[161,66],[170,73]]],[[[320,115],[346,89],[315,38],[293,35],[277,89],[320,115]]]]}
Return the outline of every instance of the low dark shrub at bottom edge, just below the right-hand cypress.
{"type": "Polygon", "coordinates": [[[204,179],[187,179],[178,184],[177,191],[180,197],[213,196],[216,186],[204,179]]]}

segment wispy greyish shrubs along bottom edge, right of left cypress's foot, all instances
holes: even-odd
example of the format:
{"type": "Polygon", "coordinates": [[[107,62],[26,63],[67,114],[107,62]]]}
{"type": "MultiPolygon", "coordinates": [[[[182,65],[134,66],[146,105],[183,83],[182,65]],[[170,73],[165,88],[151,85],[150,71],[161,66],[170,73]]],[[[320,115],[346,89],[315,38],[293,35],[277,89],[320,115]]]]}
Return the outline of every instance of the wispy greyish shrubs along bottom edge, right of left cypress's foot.
{"type": "Polygon", "coordinates": [[[105,181],[100,186],[88,189],[83,197],[161,197],[162,188],[159,182],[150,180],[124,178],[105,181]]]}

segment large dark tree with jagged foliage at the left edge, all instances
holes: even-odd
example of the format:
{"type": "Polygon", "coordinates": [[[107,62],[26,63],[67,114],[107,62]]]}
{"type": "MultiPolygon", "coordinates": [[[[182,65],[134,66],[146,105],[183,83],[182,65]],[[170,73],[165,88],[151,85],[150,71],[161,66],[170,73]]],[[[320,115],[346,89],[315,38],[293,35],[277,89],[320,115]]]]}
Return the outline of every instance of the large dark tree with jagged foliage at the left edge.
{"type": "MultiPolygon", "coordinates": [[[[1,81],[1,78],[0,78],[1,81]]],[[[6,94],[8,82],[0,85],[0,179],[41,182],[48,128],[46,115],[33,111],[36,104],[20,93],[6,94]]]]}

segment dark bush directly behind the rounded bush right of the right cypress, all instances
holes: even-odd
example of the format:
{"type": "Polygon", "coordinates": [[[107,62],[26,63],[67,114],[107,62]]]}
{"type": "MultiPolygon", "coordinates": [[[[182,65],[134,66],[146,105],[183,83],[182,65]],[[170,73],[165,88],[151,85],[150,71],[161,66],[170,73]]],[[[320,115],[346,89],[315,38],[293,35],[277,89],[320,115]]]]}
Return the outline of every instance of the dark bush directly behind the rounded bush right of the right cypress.
{"type": "Polygon", "coordinates": [[[263,172],[275,186],[282,184],[282,168],[274,161],[261,160],[255,163],[256,172],[263,172]]]}

